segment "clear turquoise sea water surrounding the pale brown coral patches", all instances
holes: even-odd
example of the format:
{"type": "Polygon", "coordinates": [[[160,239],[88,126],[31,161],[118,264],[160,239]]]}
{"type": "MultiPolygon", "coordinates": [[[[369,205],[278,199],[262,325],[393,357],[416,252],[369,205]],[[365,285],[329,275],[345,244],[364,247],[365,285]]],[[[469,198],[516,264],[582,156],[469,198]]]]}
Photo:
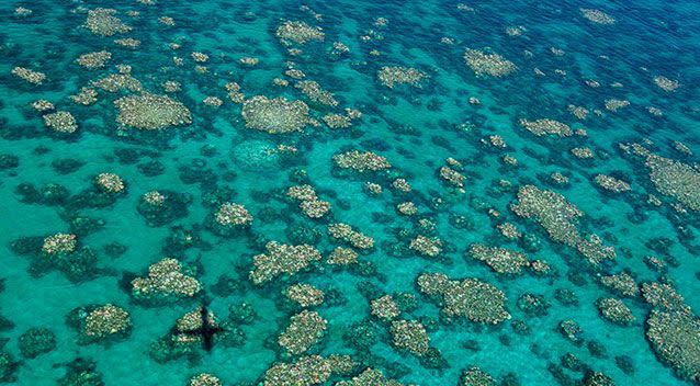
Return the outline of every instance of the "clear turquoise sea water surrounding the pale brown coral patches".
{"type": "MultiPolygon", "coordinates": [[[[208,373],[224,385],[332,385],[371,367],[402,384],[470,385],[464,372],[472,366],[490,374],[495,385],[700,382],[700,345],[693,345],[700,340],[693,314],[700,308],[697,3],[45,0],[3,2],[0,16],[0,382],[189,385],[193,376],[208,373]],[[98,11],[109,18],[90,29],[89,12],[98,8],[114,13],[98,11]],[[605,14],[594,13],[595,19],[580,9],[605,14]],[[163,16],[174,24],[159,21],[163,16]],[[311,29],[306,42],[279,36],[287,21],[311,29]],[[114,34],[104,36],[104,27],[114,34]],[[114,42],[127,37],[140,45],[114,42]],[[467,48],[498,54],[509,64],[470,67],[467,48]],[[111,54],[103,67],[76,63],[101,50],[111,54]],[[196,61],[192,53],[208,58],[196,61]],[[259,61],[240,64],[245,57],[259,61]],[[93,84],[118,73],[117,65],[131,66],[131,72],[121,70],[140,82],[140,91],[109,92],[93,84]],[[386,66],[403,68],[404,77],[421,76],[388,87],[377,76],[386,66]],[[45,79],[26,81],[13,75],[18,67],[45,79]],[[294,73],[285,73],[292,68],[332,93],[337,104],[304,94],[294,73]],[[509,73],[488,73],[504,68],[509,73]],[[167,92],[166,81],[178,82],[180,90],[167,92]],[[232,95],[225,87],[229,82],[240,88],[232,95]],[[83,87],[97,91],[94,103],[71,100],[83,87]],[[184,121],[190,122],[139,128],[114,102],[140,92],[167,94],[181,103],[178,112],[189,111],[184,121]],[[302,101],[308,114],[298,113],[298,103],[257,118],[244,114],[256,95],[302,101]],[[223,104],[208,106],[206,96],[223,104]],[[53,103],[54,110],[35,110],[37,100],[53,103]],[[613,100],[629,105],[616,109],[613,100]],[[577,117],[569,105],[585,109],[586,116],[577,117]],[[362,116],[347,128],[324,123],[327,114],[347,115],[346,109],[362,116]],[[56,111],[74,116],[74,133],[45,125],[42,115],[56,111]],[[308,122],[285,125],[295,118],[308,122]],[[586,135],[538,136],[520,123],[523,118],[554,120],[586,135]],[[282,127],[292,129],[268,133],[282,127]],[[490,136],[506,146],[492,145],[498,138],[490,136]],[[576,157],[574,148],[589,149],[592,159],[576,157]],[[351,150],[372,151],[391,167],[343,169],[338,155],[351,150]],[[515,158],[517,167],[505,156],[515,158]],[[673,160],[667,162],[675,167],[645,166],[654,157],[673,160]],[[441,177],[443,167],[464,177],[462,186],[441,177]],[[553,182],[554,172],[568,182],[553,182]],[[125,188],[111,193],[95,183],[101,173],[117,174],[125,188]],[[599,186],[598,174],[625,182],[629,191],[599,186]],[[397,178],[411,191],[397,189],[397,178]],[[383,192],[372,194],[368,182],[383,192]],[[300,201],[286,194],[300,184],[312,185],[329,212],[307,216],[300,201]],[[547,232],[541,225],[547,218],[562,227],[551,203],[544,204],[544,212],[551,209],[544,220],[513,209],[519,190],[529,185],[574,205],[580,213],[573,220],[578,237],[599,236],[614,248],[616,258],[589,263],[577,251],[579,239],[547,232]],[[144,194],[151,191],[165,202],[148,206],[144,194]],[[650,203],[656,200],[658,205],[650,203]],[[216,224],[215,214],[226,202],[242,205],[252,216],[249,225],[216,224]],[[407,202],[416,214],[397,211],[407,202]],[[337,223],[373,238],[373,248],[331,237],[328,226],[337,223]],[[498,226],[505,223],[521,236],[503,236],[498,226]],[[43,248],[56,234],[75,235],[75,250],[43,248]],[[411,249],[418,236],[438,238],[439,253],[411,249]],[[249,272],[253,257],[269,254],[269,241],[306,243],[321,259],[257,284],[249,272]],[[472,258],[475,243],[544,260],[550,270],[499,274],[472,258]],[[354,248],[359,263],[330,264],[337,247],[354,248]],[[648,257],[664,268],[650,264],[648,257]],[[195,294],[176,297],[161,291],[144,298],[134,291],[133,281],[165,258],[177,259],[199,282],[195,294]],[[82,270],[76,269],[78,259],[87,261],[82,270]],[[654,304],[644,291],[622,296],[601,283],[600,277],[620,272],[633,277],[634,288],[668,284],[685,307],[654,304]],[[417,284],[424,273],[490,283],[505,295],[509,318],[490,325],[450,316],[445,298],[429,296],[417,284]],[[324,303],[303,307],[287,299],[287,288],[297,283],[323,291],[324,303]],[[563,302],[561,290],[573,292],[576,304],[563,302]],[[524,307],[523,294],[542,296],[549,307],[524,307]],[[371,303],[384,295],[393,295],[398,307],[383,319],[372,314],[371,303]],[[597,307],[600,298],[621,299],[634,320],[619,325],[605,318],[597,307]],[[229,315],[229,307],[240,309],[244,303],[253,316],[229,315]],[[104,305],[122,308],[128,320],[95,336],[87,320],[103,321],[94,309],[104,305]],[[214,337],[211,347],[203,343],[204,329],[176,327],[193,310],[196,320],[202,306],[216,318],[206,323],[214,337]],[[86,309],[76,323],[70,316],[79,307],[86,309]],[[326,320],[325,332],[312,333],[312,344],[301,352],[284,349],[280,337],[304,309],[326,320]],[[647,319],[655,311],[690,320],[690,328],[666,337],[670,356],[648,336],[647,319]],[[425,329],[407,340],[427,337],[430,349],[411,351],[413,345],[402,344],[392,328],[399,320],[419,321],[425,329]],[[560,332],[563,320],[580,326],[580,341],[560,332]],[[523,323],[527,333],[520,331],[523,323]],[[35,328],[48,329],[54,343],[27,343],[26,332],[35,328]],[[368,331],[362,339],[360,332],[368,331]],[[166,350],[154,347],[182,337],[194,337],[173,343],[184,355],[165,357],[166,350]],[[307,355],[335,354],[349,355],[352,365],[318,382],[298,373],[274,382],[269,372],[307,355]]],[[[292,30],[300,33],[295,25],[292,30]]],[[[156,103],[142,105],[139,114],[131,118],[169,116],[156,103]]],[[[289,259],[293,264],[302,260],[289,259]]],[[[497,300],[488,302],[489,309],[497,307],[497,300]]]]}

